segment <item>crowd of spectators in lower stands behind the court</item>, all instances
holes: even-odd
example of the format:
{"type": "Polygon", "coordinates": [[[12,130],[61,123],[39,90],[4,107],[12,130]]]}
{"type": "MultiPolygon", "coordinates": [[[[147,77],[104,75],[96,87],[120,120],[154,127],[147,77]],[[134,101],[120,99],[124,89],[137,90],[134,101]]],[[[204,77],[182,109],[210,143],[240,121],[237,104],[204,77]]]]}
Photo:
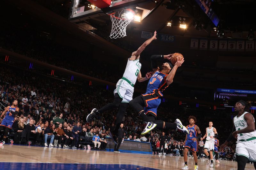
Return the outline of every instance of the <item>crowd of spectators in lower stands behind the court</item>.
{"type": "MultiPolygon", "coordinates": [[[[1,104],[7,107],[15,98],[19,100],[20,112],[15,116],[12,132],[10,132],[14,135],[13,142],[29,144],[32,137],[37,145],[48,146],[49,143],[51,147],[76,148],[82,147],[79,146],[79,140],[84,142],[86,137],[91,137],[91,140],[94,139],[93,142],[91,141],[94,149],[105,149],[105,137],[109,136],[109,131],[113,131],[115,127],[116,110],[108,111],[92,122],[85,122],[85,116],[92,108],[99,108],[111,101],[112,91],[97,86],[81,87],[67,82],[52,81],[50,78],[36,77],[33,74],[25,70],[13,72],[4,66],[0,68],[1,104]],[[24,134],[23,131],[27,133],[24,134]]],[[[158,108],[160,119],[173,122],[178,117],[182,122],[188,122],[187,118],[191,113],[187,113],[186,109],[171,108],[168,105],[170,103],[166,102],[158,108]]],[[[131,108],[127,109],[123,121],[124,139],[151,142],[153,153],[161,153],[159,150],[161,131],[156,129],[150,135],[141,136],[144,124],[138,115],[133,114],[131,108]]],[[[199,116],[196,124],[204,133],[208,122],[199,116]]],[[[219,133],[220,137],[228,135],[230,132],[228,126],[231,127],[231,121],[230,124],[216,121],[215,127],[222,129],[219,133]]],[[[163,154],[182,156],[185,136],[174,131],[167,131],[167,133],[166,140],[162,141],[163,154]]],[[[234,152],[235,144],[231,143],[224,151],[220,151],[220,158],[233,159],[234,152]]]]}

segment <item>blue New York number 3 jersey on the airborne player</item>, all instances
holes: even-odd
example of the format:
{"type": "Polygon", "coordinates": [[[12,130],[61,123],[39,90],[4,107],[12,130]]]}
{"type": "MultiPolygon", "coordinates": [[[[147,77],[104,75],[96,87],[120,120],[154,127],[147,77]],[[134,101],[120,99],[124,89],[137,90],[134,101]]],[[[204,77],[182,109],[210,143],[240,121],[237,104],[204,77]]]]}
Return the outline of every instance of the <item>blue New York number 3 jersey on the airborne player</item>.
{"type": "Polygon", "coordinates": [[[158,96],[163,96],[162,92],[168,87],[166,77],[168,74],[156,71],[148,81],[146,94],[155,92],[158,96]]]}

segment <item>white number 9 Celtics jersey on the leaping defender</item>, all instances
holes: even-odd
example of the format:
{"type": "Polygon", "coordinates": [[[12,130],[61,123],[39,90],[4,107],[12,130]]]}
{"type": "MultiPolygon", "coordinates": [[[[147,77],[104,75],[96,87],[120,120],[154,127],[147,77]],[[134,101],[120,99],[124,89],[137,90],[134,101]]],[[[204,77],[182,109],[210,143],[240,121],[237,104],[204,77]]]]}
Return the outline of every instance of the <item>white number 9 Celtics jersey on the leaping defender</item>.
{"type": "Polygon", "coordinates": [[[129,59],[126,64],[123,78],[128,79],[133,85],[135,85],[141,69],[141,63],[140,63],[140,59],[137,59],[137,60],[129,60],[129,59]]]}

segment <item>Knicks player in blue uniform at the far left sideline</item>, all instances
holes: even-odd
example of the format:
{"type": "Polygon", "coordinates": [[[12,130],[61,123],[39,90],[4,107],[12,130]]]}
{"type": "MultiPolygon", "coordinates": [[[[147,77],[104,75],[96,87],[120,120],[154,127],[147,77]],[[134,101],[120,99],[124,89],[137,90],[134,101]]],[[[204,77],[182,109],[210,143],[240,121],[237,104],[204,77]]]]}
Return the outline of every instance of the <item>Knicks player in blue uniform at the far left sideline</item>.
{"type": "Polygon", "coordinates": [[[14,122],[14,117],[15,117],[15,115],[18,115],[18,113],[20,111],[20,109],[19,109],[19,107],[17,107],[17,105],[18,105],[18,100],[15,99],[12,102],[12,106],[7,106],[0,117],[0,119],[3,119],[3,117],[6,113],[2,123],[0,125],[0,133],[1,134],[4,133],[4,138],[3,138],[3,140],[0,141],[0,145],[5,143],[5,138],[7,137],[9,130],[12,128],[12,124],[14,122]]]}

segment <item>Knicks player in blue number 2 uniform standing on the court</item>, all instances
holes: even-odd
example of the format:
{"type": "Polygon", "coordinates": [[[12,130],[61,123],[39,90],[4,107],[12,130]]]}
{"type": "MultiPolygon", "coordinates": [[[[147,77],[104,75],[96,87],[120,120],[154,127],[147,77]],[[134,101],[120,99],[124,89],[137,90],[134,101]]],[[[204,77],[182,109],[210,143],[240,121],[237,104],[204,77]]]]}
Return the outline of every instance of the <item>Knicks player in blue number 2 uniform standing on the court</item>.
{"type": "Polygon", "coordinates": [[[196,123],[196,117],[195,116],[189,116],[188,118],[189,125],[187,126],[188,129],[188,135],[186,135],[186,140],[185,140],[185,149],[184,149],[184,162],[185,165],[181,169],[188,169],[188,151],[191,150],[192,154],[194,156],[195,160],[195,167],[194,170],[198,170],[198,165],[197,165],[197,148],[198,148],[198,140],[202,137],[201,131],[196,123]]]}

